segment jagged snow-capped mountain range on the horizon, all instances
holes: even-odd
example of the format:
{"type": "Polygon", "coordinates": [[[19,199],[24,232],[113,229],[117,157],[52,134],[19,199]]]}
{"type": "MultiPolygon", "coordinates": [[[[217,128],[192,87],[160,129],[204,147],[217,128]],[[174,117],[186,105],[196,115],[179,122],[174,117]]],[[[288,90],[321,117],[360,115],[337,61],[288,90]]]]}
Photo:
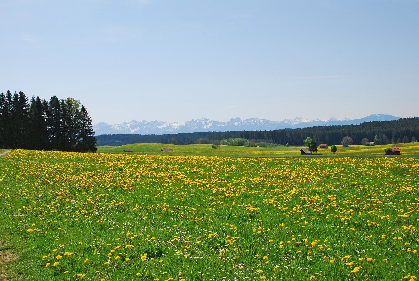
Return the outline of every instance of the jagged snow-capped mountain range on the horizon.
{"type": "Polygon", "coordinates": [[[283,121],[270,121],[260,118],[249,118],[241,120],[240,118],[232,118],[227,122],[219,122],[210,119],[194,119],[184,123],[167,123],[163,121],[136,121],[123,124],[109,125],[100,122],[93,126],[96,135],[101,134],[177,134],[207,131],[264,131],[276,129],[297,129],[312,126],[334,126],[334,125],[351,125],[361,124],[369,121],[391,121],[398,120],[388,114],[372,114],[361,119],[336,119],[330,118],[326,121],[320,119],[309,120],[304,117],[296,117],[295,119],[285,119],[283,121]]]}

